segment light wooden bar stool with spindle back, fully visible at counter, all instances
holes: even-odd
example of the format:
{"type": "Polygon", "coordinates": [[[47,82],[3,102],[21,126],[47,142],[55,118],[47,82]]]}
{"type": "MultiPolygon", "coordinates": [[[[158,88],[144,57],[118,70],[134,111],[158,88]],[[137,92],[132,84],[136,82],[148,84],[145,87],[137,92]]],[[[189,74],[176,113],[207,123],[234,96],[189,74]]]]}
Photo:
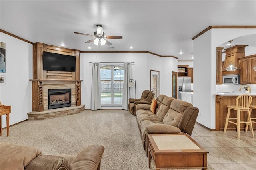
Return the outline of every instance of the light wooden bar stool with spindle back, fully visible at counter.
{"type": "MultiPolygon", "coordinates": [[[[240,124],[245,123],[246,126],[250,125],[252,137],[254,138],[253,134],[253,128],[252,128],[252,119],[251,119],[251,114],[250,114],[250,104],[252,103],[252,96],[244,94],[240,95],[236,98],[236,105],[228,105],[228,113],[227,113],[227,118],[226,118],[226,123],[225,123],[225,128],[224,132],[227,131],[228,123],[233,123],[236,125],[236,131],[237,131],[237,138],[240,138],[240,124]],[[236,111],[236,118],[230,118],[230,110],[233,109],[236,111]],[[240,120],[240,111],[247,111],[247,121],[241,121],[240,120]],[[236,120],[236,122],[234,121],[236,120]]],[[[245,129],[246,131],[246,129],[245,129]]]]}

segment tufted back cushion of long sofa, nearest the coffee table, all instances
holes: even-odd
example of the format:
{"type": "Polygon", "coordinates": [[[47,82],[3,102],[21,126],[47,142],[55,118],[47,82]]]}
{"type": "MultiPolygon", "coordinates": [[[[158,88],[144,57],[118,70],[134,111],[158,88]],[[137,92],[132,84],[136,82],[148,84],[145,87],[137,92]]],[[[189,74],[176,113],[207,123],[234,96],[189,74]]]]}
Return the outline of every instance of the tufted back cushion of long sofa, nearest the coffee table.
{"type": "Polygon", "coordinates": [[[164,124],[178,127],[180,119],[188,106],[191,106],[191,104],[186,101],[174,99],[163,119],[164,124]]]}

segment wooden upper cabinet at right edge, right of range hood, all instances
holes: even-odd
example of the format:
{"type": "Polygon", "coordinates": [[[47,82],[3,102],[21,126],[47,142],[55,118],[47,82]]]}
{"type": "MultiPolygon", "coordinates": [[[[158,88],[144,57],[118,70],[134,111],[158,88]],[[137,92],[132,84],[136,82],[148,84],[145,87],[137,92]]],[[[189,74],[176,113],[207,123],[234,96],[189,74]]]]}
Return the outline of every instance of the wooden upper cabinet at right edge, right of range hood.
{"type": "Polygon", "coordinates": [[[256,54],[239,59],[241,67],[240,83],[241,84],[256,84],[256,71],[253,67],[256,66],[256,54]]]}

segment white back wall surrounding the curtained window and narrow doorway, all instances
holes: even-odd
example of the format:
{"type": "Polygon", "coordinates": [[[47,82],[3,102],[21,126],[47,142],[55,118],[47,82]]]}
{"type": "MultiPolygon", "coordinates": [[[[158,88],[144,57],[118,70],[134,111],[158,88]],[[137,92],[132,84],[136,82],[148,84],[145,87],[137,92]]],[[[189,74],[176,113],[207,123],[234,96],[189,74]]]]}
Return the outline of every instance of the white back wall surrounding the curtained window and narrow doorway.
{"type": "MultiPolygon", "coordinates": [[[[160,94],[171,96],[172,71],[177,71],[177,59],[158,57],[149,53],[80,53],[81,103],[90,109],[92,66],[89,62],[132,62],[131,79],[136,80],[136,95],[150,90],[150,70],[160,72],[160,94]]],[[[111,63],[110,63],[111,64],[111,63]]],[[[116,63],[115,63],[116,64],[116,63]]],[[[131,97],[135,98],[135,90],[131,88],[131,97]]]]}

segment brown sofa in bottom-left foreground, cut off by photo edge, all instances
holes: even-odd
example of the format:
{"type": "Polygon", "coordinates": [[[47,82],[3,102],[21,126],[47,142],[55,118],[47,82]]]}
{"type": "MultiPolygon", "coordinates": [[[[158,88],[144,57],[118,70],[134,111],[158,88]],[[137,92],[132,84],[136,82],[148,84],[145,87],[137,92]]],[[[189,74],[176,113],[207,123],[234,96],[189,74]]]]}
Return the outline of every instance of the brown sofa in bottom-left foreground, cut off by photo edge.
{"type": "Polygon", "coordinates": [[[94,144],[76,155],[42,155],[38,148],[0,144],[0,170],[100,170],[104,146],[94,144]]]}

